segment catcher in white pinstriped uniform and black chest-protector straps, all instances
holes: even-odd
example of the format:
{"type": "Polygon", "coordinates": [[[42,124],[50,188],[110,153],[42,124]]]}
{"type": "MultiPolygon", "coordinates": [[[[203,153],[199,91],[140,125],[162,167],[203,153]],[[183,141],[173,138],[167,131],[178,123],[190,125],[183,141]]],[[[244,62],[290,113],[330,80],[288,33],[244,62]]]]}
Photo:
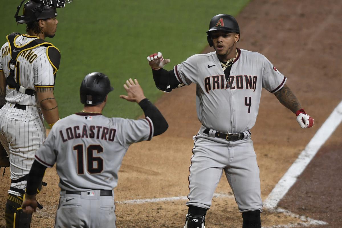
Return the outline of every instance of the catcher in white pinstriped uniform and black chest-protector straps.
{"type": "Polygon", "coordinates": [[[30,227],[31,216],[21,203],[36,150],[46,137],[44,119],[52,127],[59,119],[53,89],[61,54],[45,37],[54,37],[59,0],[30,0],[16,22],[26,23],[26,34],[11,33],[0,50],[0,141],[10,161],[11,187],[5,208],[6,227],[30,227]]]}

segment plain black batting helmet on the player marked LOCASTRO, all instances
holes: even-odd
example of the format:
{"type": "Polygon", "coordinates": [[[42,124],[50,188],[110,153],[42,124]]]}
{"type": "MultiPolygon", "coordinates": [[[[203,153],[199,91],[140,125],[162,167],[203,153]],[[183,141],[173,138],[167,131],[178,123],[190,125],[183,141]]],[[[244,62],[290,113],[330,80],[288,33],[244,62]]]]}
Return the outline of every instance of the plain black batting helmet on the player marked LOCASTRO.
{"type": "Polygon", "coordinates": [[[107,94],[113,90],[109,78],[100,72],[92,72],[84,77],[80,87],[81,103],[87,105],[101,104],[107,94]]]}

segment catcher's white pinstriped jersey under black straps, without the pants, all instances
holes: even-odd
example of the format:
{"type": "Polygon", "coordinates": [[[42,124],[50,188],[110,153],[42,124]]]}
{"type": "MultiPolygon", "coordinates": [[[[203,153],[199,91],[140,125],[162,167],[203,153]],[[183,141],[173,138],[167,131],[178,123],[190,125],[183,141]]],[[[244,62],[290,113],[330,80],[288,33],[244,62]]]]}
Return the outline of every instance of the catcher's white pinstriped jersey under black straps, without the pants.
{"type": "MultiPolygon", "coordinates": [[[[16,37],[14,43],[16,47],[22,47],[38,37],[21,35],[16,37]]],[[[14,49],[15,51],[15,49],[14,49]]],[[[7,78],[10,73],[9,62],[11,60],[11,51],[9,43],[6,42],[0,52],[0,69],[3,70],[7,78]]],[[[26,89],[35,90],[35,85],[40,87],[53,87],[54,73],[56,69],[51,65],[45,46],[38,46],[35,49],[21,53],[17,58],[15,68],[15,80],[19,76],[19,83],[26,89]],[[19,74],[18,74],[19,70],[19,74]]],[[[6,101],[17,103],[19,105],[39,106],[37,97],[16,91],[6,86],[6,101]]]]}

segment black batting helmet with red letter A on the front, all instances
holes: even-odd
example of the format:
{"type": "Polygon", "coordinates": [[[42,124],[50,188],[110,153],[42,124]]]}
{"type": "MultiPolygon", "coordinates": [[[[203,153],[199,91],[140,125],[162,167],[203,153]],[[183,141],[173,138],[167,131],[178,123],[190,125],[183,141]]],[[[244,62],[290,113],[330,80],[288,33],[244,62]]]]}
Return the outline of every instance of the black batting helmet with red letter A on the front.
{"type": "Polygon", "coordinates": [[[207,31],[207,39],[209,45],[213,46],[213,41],[210,36],[211,31],[227,31],[227,32],[236,32],[240,34],[240,28],[236,21],[236,19],[232,15],[228,14],[218,14],[211,18],[209,24],[209,30],[207,31]]]}

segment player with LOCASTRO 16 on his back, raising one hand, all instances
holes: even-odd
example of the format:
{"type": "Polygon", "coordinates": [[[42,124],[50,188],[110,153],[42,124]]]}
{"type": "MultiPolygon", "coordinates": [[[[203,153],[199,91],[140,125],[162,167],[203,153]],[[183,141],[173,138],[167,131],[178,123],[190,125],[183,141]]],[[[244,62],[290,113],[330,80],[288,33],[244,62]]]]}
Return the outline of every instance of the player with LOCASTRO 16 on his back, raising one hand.
{"type": "Polygon", "coordinates": [[[144,96],[138,81],[124,84],[121,98],[140,105],[145,119],[108,118],[101,112],[113,90],[106,75],[88,74],[80,87],[84,109],[59,120],[36,153],[28,175],[23,210],[36,211],[36,188],[56,163],[61,197],[55,227],[116,227],[113,188],[128,147],[165,132],[168,124],[144,96]],[[66,169],[66,167],[68,167],[66,169]]]}

